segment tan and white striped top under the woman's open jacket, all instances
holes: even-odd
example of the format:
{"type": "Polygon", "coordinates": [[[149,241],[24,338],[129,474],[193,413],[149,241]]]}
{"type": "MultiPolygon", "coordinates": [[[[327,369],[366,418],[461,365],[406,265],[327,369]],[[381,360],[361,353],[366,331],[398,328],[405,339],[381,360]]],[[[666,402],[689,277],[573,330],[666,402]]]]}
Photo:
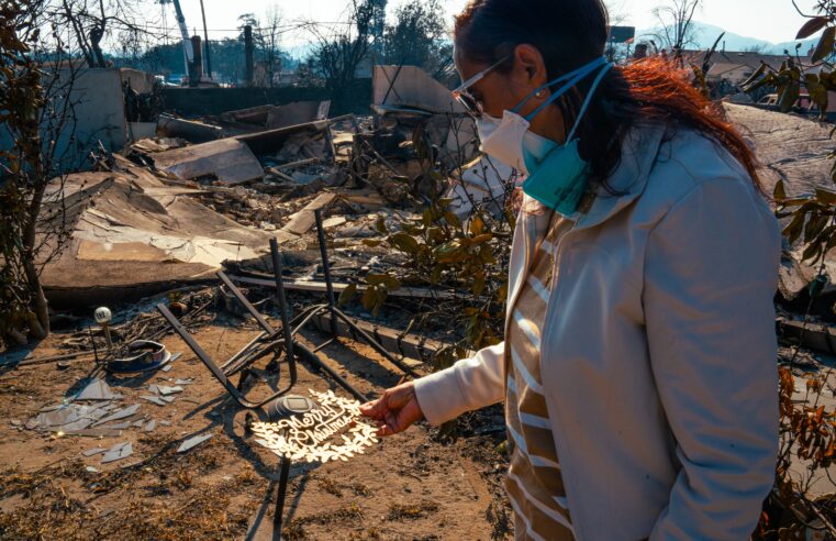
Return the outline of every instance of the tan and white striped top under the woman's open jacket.
{"type": "Polygon", "coordinates": [[[512,311],[508,347],[505,418],[511,467],[505,481],[514,509],[516,539],[572,540],[560,466],[551,437],[540,377],[540,331],[551,286],[557,240],[573,222],[555,213],[532,258],[528,277],[512,311]]]}

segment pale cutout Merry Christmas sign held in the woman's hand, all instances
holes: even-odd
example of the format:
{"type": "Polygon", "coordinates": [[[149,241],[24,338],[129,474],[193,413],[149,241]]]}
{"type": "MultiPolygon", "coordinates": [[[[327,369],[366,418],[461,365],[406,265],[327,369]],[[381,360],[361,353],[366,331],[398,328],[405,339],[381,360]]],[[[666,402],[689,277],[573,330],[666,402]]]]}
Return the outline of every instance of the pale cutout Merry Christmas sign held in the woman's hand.
{"type": "Polygon", "coordinates": [[[310,389],[319,407],[278,422],[254,422],[256,441],[291,461],[348,461],[377,443],[377,428],[360,421],[360,402],[310,389]]]}

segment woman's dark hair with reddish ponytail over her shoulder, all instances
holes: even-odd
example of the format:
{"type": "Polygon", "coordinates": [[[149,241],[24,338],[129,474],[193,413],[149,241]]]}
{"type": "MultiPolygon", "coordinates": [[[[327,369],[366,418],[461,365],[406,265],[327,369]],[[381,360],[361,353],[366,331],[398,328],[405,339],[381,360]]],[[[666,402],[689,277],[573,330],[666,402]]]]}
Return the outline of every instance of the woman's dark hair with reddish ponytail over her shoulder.
{"type": "MultiPolygon", "coordinates": [[[[544,57],[549,79],[555,79],[602,56],[608,27],[601,0],[471,0],[456,16],[455,42],[460,54],[476,63],[491,65],[509,57],[499,71],[513,67],[511,53],[517,45],[533,45],[544,57]]],[[[591,79],[556,101],[567,130],[591,79]]],[[[691,84],[687,70],[662,58],[615,66],[601,81],[578,129],[579,151],[590,163],[593,179],[606,187],[621,161],[626,131],[639,122],[705,135],[726,148],[763,191],[755,155],[722,108],[691,84]]]]}

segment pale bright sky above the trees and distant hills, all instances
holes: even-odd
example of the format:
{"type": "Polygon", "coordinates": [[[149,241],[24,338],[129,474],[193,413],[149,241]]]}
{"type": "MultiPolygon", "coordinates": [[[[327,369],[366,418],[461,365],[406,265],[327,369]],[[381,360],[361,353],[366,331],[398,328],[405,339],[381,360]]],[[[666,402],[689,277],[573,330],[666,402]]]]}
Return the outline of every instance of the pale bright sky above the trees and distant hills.
{"type": "MultiPolygon", "coordinates": [[[[153,4],[153,0],[146,0],[153,4]]],[[[402,0],[390,0],[390,10],[402,0]]],[[[656,21],[651,14],[653,8],[665,0],[605,0],[613,15],[621,14],[625,24],[639,29],[651,27],[656,21]]],[[[200,0],[180,0],[186,22],[192,27],[202,26],[200,19],[200,0]]],[[[346,0],[247,0],[244,2],[230,0],[203,0],[207,10],[207,25],[210,38],[233,36],[238,25],[237,16],[253,12],[264,18],[272,7],[277,7],[282,19],[290,24],[299,20],[338,21],[345,12],[346,0]]],[[[447,16],[460,10],[467,0],[443,0],[447,16]]],[[[560,1],[555,0],[559,5],[560,1]]],[[[815,0],[798,0],[802,9],[810,8],[815,0]]],[[[159,7],[153,10],[159,10],[159,7]]],[[[152,10],[152,12],[153,12],[152,10]]],[[[159,11],[157,11],[159,13],[159,11]]],[[[157,16],[158,20],[159,15],[157,16]]],[[[174,35],[175,14],[171,4],[167,7],[167,26],[174,35]]],[[[703,7],[694,19],[722,26],[726,31],[747,37],[757,37],[773,43],[792,40],[803,24],[804,19],[795,11],[791,0],[703,0],[703,7]]],[[[202,35],[202,32],[201,32],[202,35]]],[[[305,32],[288,31],[283,35],[286,46],[297,45],[310,38],[305,32]]]]}

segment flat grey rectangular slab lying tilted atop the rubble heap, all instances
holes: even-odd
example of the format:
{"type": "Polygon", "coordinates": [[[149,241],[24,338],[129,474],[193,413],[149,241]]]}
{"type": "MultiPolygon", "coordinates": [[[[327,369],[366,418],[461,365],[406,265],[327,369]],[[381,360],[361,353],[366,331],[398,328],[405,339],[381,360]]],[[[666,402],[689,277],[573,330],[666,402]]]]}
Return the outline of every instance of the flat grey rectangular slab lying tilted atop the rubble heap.
{"type": "Polygon", "coordinates": [[[253,151],[232,137],[152,154],[151,158],[158,169],[182,180],[214,176],[222,183],[235,185],[264,176],[253,151]]]}

